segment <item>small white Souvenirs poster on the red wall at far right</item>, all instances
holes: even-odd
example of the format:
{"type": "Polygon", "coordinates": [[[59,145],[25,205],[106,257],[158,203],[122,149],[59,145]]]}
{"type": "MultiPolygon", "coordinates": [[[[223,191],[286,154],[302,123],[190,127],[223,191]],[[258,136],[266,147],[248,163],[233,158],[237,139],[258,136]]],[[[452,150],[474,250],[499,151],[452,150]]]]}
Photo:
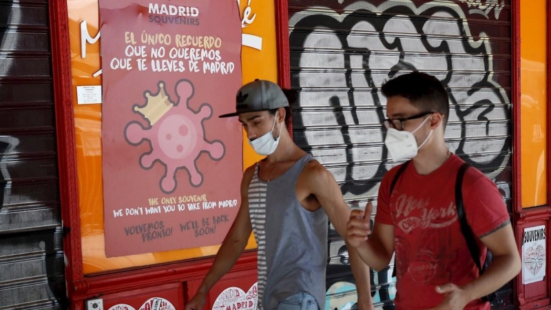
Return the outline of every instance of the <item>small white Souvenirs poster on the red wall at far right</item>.
{"type": "Polygon", "coordinates": [[[524,229],[522,240],[522,284],[545,277],[545,225],[524,229]]]}

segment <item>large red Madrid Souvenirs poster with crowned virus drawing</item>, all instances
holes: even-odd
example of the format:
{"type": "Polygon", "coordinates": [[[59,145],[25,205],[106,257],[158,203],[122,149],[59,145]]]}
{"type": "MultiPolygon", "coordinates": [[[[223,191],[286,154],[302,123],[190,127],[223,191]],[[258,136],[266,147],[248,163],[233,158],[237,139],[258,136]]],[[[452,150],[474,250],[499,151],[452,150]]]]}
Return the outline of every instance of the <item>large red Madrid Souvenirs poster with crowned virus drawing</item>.
{"type": "Polygon", "coordinates": [[[107,257],[217,245],[240,203],[236,1],[100,0],[107,257]]]}

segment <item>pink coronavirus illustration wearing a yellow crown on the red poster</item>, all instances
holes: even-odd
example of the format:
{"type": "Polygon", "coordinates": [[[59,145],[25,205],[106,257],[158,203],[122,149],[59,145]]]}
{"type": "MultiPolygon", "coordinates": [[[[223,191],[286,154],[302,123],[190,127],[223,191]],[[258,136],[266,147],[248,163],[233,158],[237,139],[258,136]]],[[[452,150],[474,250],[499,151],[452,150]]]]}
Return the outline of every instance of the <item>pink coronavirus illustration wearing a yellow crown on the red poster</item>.
{"type": "Polygon", "coordinates": [[[203,122],[212,116],[208,103],[197,111],[189,107],[194,96],[194,85],[187,79],[176,83],[178,102],[174,103],[166,92],[163,81],[158,83],[158,92],[146,91],[145,105],[134,105],[136,114],[143,116],[147,127],[132,121],[125,127],[125,138],[130,145],[149,143],[149,152],[142,154],[139,163],[143,169],[151,169],[156,162],[165,166],[165,175],[160,178],[160,189],[166,194],[176,190],[176,172],[185,169],[189,183],[199,187],[203,176],[196,161],[202,153],[209,154],[213,161],[224,157],[225,147],[220,141],[207,141],[203,122]]]}

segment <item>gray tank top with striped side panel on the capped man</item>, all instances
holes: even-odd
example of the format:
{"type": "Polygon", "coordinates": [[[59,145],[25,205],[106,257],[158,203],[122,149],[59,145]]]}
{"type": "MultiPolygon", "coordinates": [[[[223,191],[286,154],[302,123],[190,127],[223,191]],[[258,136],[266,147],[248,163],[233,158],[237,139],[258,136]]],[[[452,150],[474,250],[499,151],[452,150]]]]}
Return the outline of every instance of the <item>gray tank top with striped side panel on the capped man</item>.
{"type": "Polygon", "coordinates": [[[278,178],[249,185],[249,214],[258,245],[258,309],[273,310],[287,297],[310,293],[325,309],[327,215],[300,205],[295,187],[313,157],[306,154],[278,178]]]}

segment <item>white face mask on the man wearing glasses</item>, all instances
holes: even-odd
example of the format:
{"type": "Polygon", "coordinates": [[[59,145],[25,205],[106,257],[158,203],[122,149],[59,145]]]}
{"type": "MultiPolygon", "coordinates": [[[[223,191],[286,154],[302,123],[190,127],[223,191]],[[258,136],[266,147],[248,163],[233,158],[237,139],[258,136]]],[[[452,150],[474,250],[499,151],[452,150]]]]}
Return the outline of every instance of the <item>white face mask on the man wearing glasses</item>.
{"type": "Polygon", "coordinates": [[[386,149],[391,154],[392,160],[394,162],[404,161],[406,159],[411,159],[417,156],[417,150],[419,150],[430,138],[430,135],[433,134],[433,130],[430,130],[430,133],[425,138],[425,141],[417,147],[417,141],[413,133],[416,132],[421,126],[428,120],[430,116],[425,118],[421,125],[417,126],[413,132],[406,132],[405,130],[399,131],[395,128],[388,128],[386,131],[386,138],[384,139],[384,145],[386,149]]]}

